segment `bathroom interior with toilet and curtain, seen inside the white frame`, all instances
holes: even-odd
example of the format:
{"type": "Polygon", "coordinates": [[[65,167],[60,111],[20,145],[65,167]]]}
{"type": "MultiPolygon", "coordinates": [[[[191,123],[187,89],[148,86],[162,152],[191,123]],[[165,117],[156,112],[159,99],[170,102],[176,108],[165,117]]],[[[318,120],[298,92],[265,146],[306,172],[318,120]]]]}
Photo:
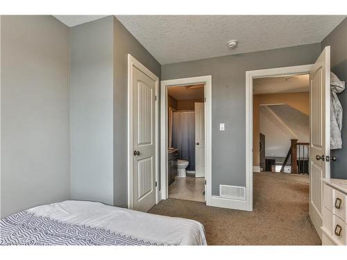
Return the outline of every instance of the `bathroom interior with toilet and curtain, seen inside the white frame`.
{"type": "Polygon", "coordinates": [[[205,202],[205,85],[167,89],[169,198],[205,202]]]}

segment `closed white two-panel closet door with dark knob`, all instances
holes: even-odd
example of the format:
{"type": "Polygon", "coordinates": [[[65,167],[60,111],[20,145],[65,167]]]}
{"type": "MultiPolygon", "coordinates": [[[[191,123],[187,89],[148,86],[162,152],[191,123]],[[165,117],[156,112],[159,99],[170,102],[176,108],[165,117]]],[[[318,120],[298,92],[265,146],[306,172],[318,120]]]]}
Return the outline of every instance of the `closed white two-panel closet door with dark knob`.
{"type": "Polygon", "coordinates": [[[133,68],[133,209],[155,205],[155,81],[133,68]]]}

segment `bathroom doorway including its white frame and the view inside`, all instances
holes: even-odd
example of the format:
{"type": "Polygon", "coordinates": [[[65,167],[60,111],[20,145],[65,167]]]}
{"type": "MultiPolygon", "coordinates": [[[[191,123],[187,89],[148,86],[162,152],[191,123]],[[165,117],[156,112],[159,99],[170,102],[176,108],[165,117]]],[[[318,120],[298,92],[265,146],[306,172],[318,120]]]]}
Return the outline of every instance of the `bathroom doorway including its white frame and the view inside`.
{"type": "Polygon", "coordinates": [[[211,201],[211,76],[162,81],[162,199],[211,201]]]}

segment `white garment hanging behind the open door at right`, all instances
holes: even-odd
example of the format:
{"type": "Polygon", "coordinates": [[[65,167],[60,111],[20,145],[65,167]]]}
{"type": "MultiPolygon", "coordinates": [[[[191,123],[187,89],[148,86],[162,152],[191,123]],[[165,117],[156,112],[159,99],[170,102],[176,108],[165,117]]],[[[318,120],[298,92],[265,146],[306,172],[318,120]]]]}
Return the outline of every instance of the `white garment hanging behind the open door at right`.
{"type": "Polygon", "coordinates": [[[342,106],[337,97],[337,93],[345,89],[344,81],[330,72],[330,149],[341,149],[342,139],[342,106]]]}

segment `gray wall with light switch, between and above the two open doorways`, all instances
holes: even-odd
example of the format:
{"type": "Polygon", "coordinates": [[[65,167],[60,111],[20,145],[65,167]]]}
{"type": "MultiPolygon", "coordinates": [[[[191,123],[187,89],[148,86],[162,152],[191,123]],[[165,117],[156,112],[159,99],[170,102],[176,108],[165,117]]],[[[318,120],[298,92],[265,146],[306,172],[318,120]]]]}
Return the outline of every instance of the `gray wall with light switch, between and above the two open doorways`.
{"type": "Polygon", "coordinates": [[[162,65],[162,80],[212,75],[212,195],[246,184],[246,71],[311,64],[319,53],[317,43],[162,65]]]}

